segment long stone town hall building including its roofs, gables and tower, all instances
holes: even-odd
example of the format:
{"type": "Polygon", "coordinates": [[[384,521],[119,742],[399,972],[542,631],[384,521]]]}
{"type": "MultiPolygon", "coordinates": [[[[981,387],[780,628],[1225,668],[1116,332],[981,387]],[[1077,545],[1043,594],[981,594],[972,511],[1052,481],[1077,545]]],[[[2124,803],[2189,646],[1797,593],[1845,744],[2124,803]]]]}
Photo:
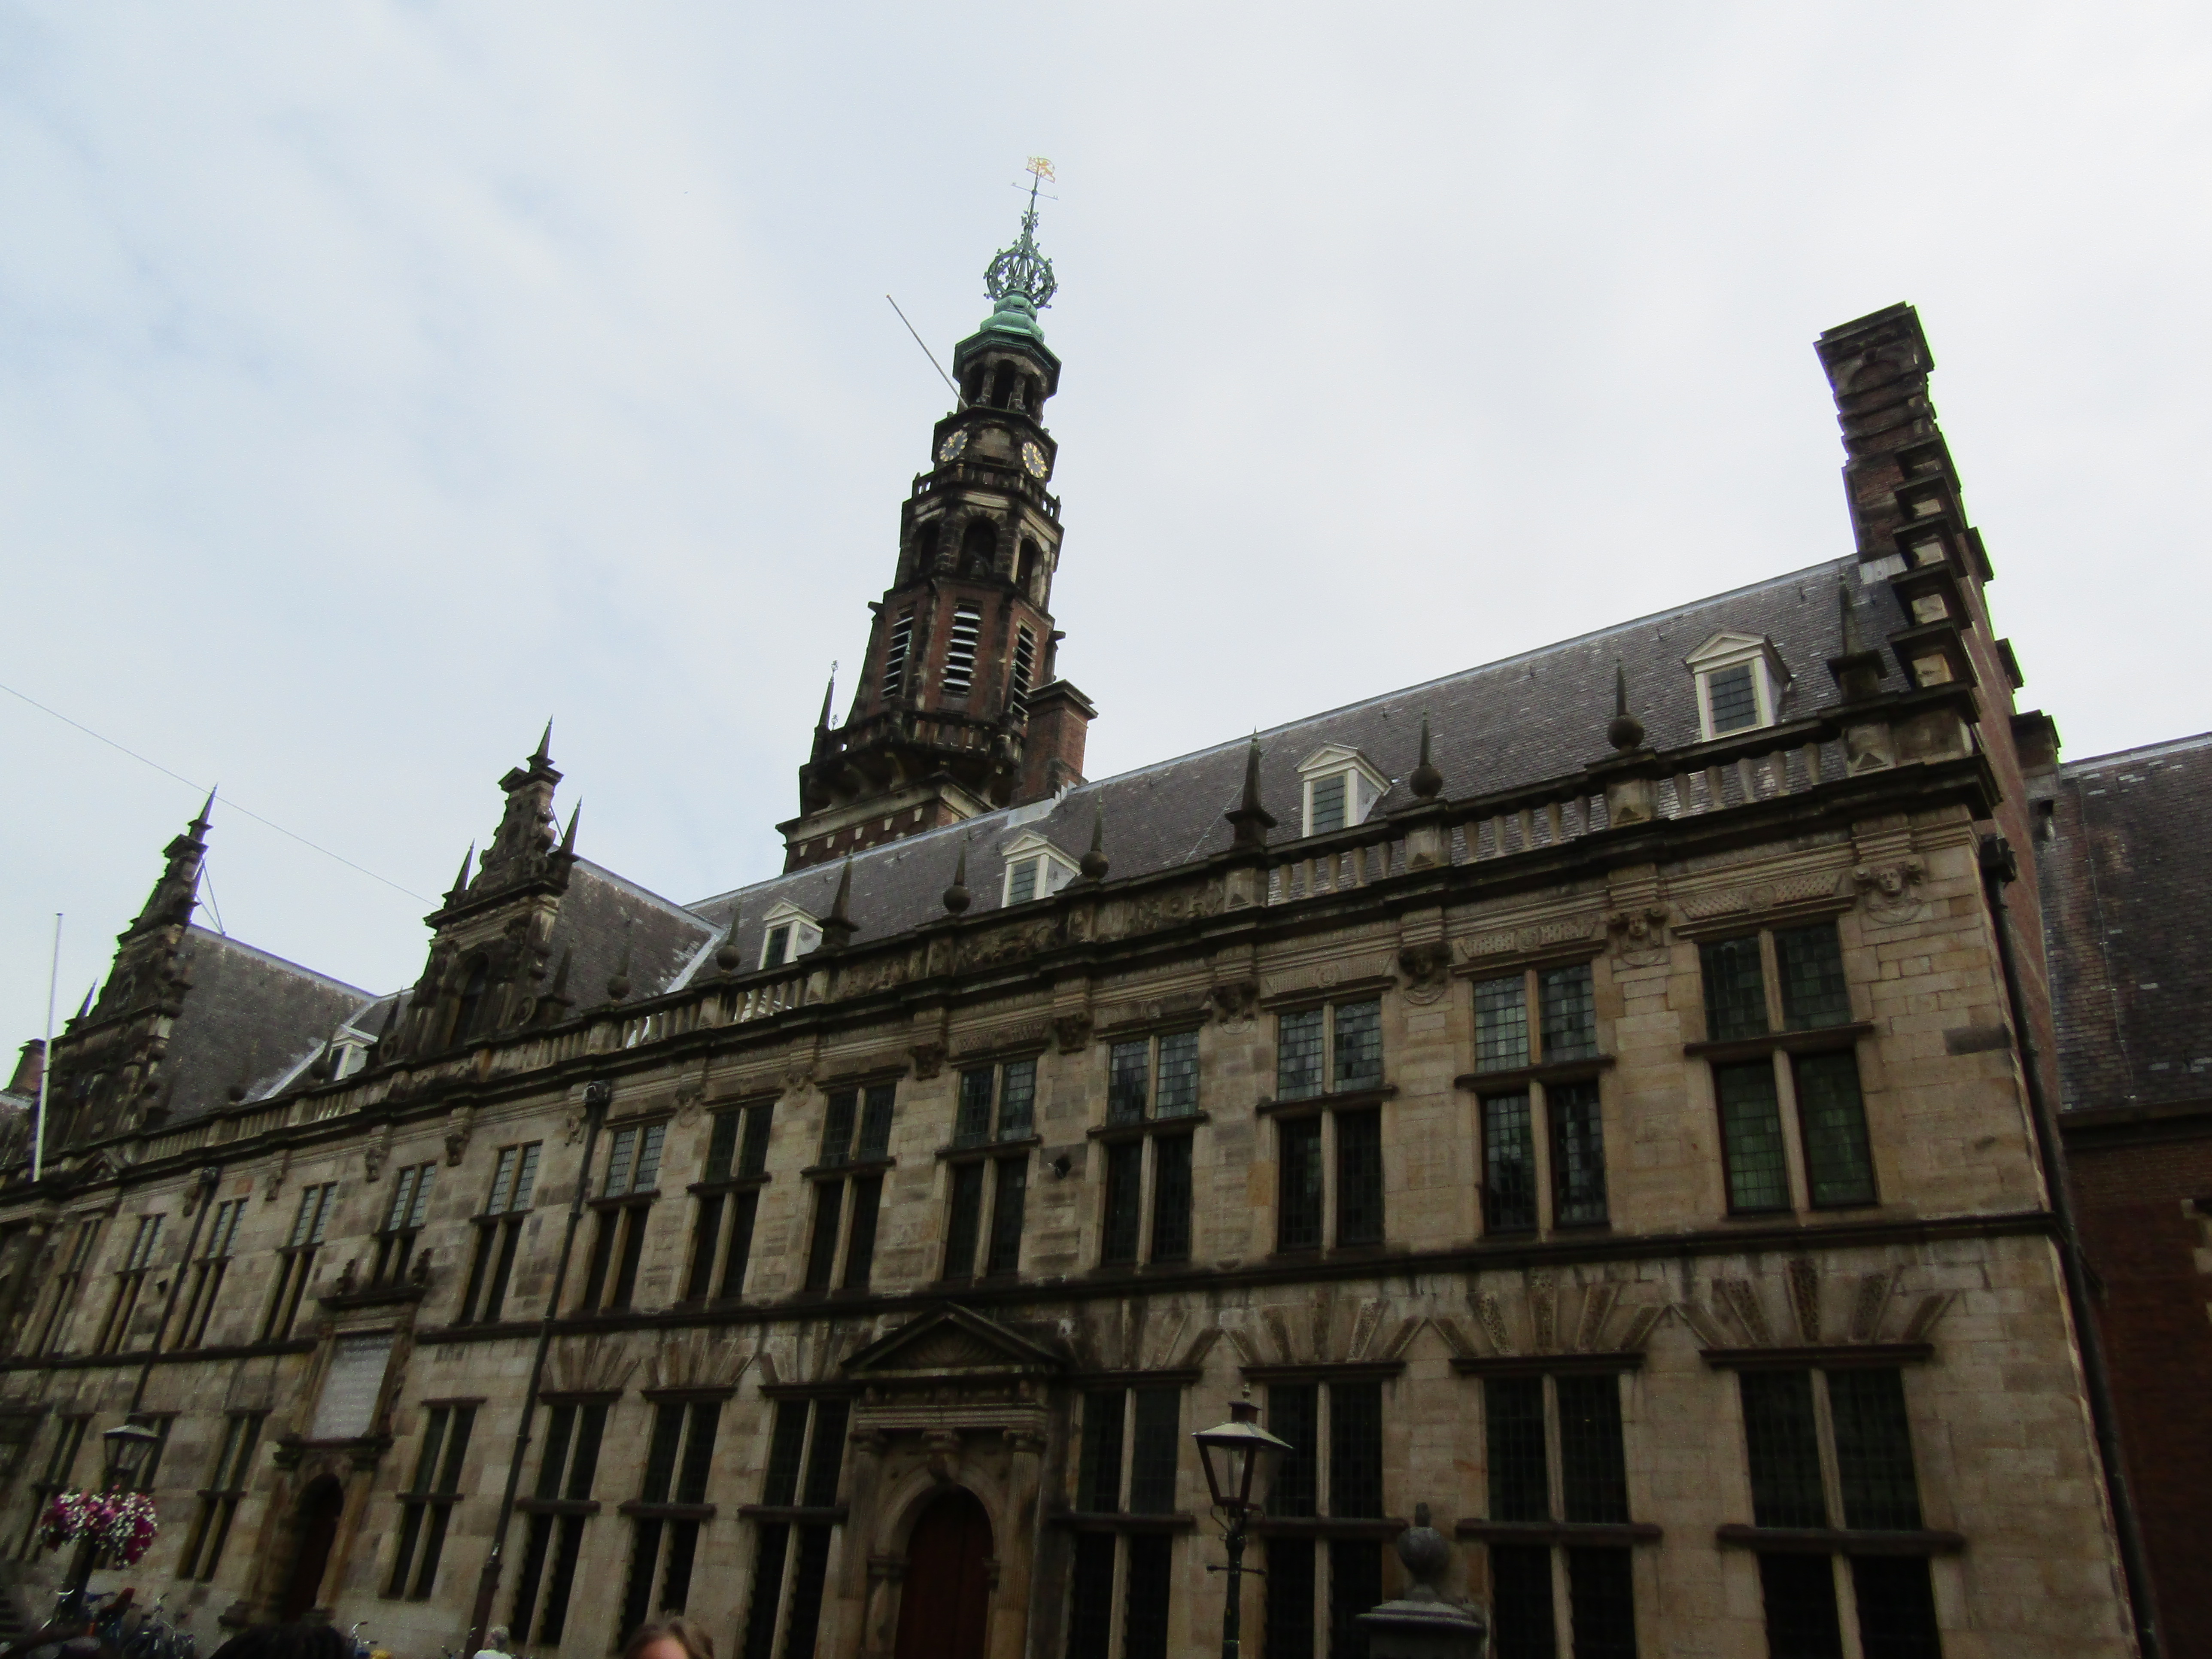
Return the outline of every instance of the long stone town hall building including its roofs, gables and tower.
{"type": "Polygon", "coordinates": [[[1498,1655],[2135,1652],[2022,1068],[2048,721],[1911,310],[1820,338],[1843,555],[1084,783],[1031,230],[783,876],[593,865],[542,741],[374,995],[170,843],[0,1186],[11,1551],[135,1413],[137,1579],[230,1621],[1155,1659],[1250,1389],[1267,1659],[1358,1650],[1416,1504],[1498,1655]]]}

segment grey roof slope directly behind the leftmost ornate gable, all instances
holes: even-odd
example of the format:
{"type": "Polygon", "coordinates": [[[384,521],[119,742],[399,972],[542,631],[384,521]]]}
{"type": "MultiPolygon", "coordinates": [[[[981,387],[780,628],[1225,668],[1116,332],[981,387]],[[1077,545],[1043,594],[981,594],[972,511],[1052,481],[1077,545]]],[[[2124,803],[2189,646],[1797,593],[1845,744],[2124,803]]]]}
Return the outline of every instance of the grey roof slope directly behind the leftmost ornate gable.
{"type": "Polygon", "coordinates": [[[186,927],[190,991],[161,1057],[170,1121],[261,1099],[292,1082],[343,1024],[369,1015],[376,995],[285,962],[206,927],[186,927]]]}

